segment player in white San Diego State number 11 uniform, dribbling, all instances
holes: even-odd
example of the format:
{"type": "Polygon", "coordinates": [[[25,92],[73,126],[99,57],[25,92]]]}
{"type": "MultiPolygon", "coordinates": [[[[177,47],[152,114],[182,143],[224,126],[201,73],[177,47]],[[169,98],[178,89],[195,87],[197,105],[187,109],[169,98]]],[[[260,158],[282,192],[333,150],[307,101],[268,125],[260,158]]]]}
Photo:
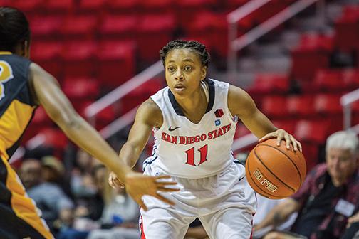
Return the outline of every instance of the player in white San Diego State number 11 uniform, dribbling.
{"type": "MultiPolygon", "coordinates": [[[[301,150],[301,144],[276,129],[239,87],[207,79],[209,53],[197,41],[171,41],[160,51],[167,87],[137,110],[120,158],[135,166],[153,130],[152,156],[144,174],[169,174],[180,191],[161,193],[175,206],[142,197],[141,239],[184,238],[189,223],[199,218],[209,238],[251,238],[256,198],[244,166],[231,152],[237,119],[260,141],[276,137],[301,150]],[[148,209],[147,211],[143,209],[148,209]]],[[[120,186],[115,174],[111,186],[120,186]]]]}

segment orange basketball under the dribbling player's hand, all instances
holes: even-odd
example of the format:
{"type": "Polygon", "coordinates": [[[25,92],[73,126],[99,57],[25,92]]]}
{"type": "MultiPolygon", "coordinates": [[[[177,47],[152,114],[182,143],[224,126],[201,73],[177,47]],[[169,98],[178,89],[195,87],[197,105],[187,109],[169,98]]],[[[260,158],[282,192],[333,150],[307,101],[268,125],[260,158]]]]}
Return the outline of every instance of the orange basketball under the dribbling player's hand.
{"type": "Polygon", "coordinates": [[[271,199],[281,199],[298,191],[306,177],[306,159],[297,150],[286,149],[286,142],[276,139],[257,144],[246,160],[246,178],[256,191],[271,199]]]}

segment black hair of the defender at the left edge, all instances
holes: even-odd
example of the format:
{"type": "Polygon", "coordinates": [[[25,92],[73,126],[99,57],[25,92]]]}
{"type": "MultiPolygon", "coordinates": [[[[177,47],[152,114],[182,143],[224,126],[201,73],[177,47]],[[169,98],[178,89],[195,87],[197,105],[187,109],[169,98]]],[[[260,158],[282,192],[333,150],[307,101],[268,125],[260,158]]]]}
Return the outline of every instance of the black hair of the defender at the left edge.
{"type": "Polygon", "coordinates": [[[18,9],[0,7],[0,51],[15,51],[22,41],[30,42],[31,32],[25,14],[18,9]]]}

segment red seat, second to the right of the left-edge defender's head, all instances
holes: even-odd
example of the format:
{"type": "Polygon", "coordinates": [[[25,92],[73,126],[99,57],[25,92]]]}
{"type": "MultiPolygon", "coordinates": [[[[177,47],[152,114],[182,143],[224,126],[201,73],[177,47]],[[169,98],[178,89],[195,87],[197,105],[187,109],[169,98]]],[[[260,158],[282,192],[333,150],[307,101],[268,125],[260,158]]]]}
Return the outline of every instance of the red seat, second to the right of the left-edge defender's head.
{"type": "Polygon", "coordinates": [[[61,34],[66,39],[91,40],[98,28],[96,16],[69,16],[61,26],[61,34]]]}

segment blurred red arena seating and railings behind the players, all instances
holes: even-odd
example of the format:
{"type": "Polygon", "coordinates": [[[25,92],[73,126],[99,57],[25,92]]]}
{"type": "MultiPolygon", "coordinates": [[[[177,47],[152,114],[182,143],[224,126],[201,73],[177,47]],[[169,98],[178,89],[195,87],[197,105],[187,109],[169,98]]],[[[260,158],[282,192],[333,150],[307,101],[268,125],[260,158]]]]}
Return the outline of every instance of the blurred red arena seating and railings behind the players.
{"type": "MultiPolygon", "coordinates": [[[[31,60],[58,79],[116,150],[136,107],[165,86],[158,52],[176,38],[204,43],[212,55],[209,77],[243,87],[276,127],[294,134],[308,170],[323,161],[329,134],[343,127],[359,132],[359,1],[0,0],[0,6],[26,13],[31,60]]],[[[256,139],[242,124],[235,138],[234,151],[245,159],[256,139]]],[[[93,180],[95,160],[78,152],[41,107],[22,145],[11,158],[15,168],[51,155],[63,168],[63,185],[74,174],[93,180]]]]}

